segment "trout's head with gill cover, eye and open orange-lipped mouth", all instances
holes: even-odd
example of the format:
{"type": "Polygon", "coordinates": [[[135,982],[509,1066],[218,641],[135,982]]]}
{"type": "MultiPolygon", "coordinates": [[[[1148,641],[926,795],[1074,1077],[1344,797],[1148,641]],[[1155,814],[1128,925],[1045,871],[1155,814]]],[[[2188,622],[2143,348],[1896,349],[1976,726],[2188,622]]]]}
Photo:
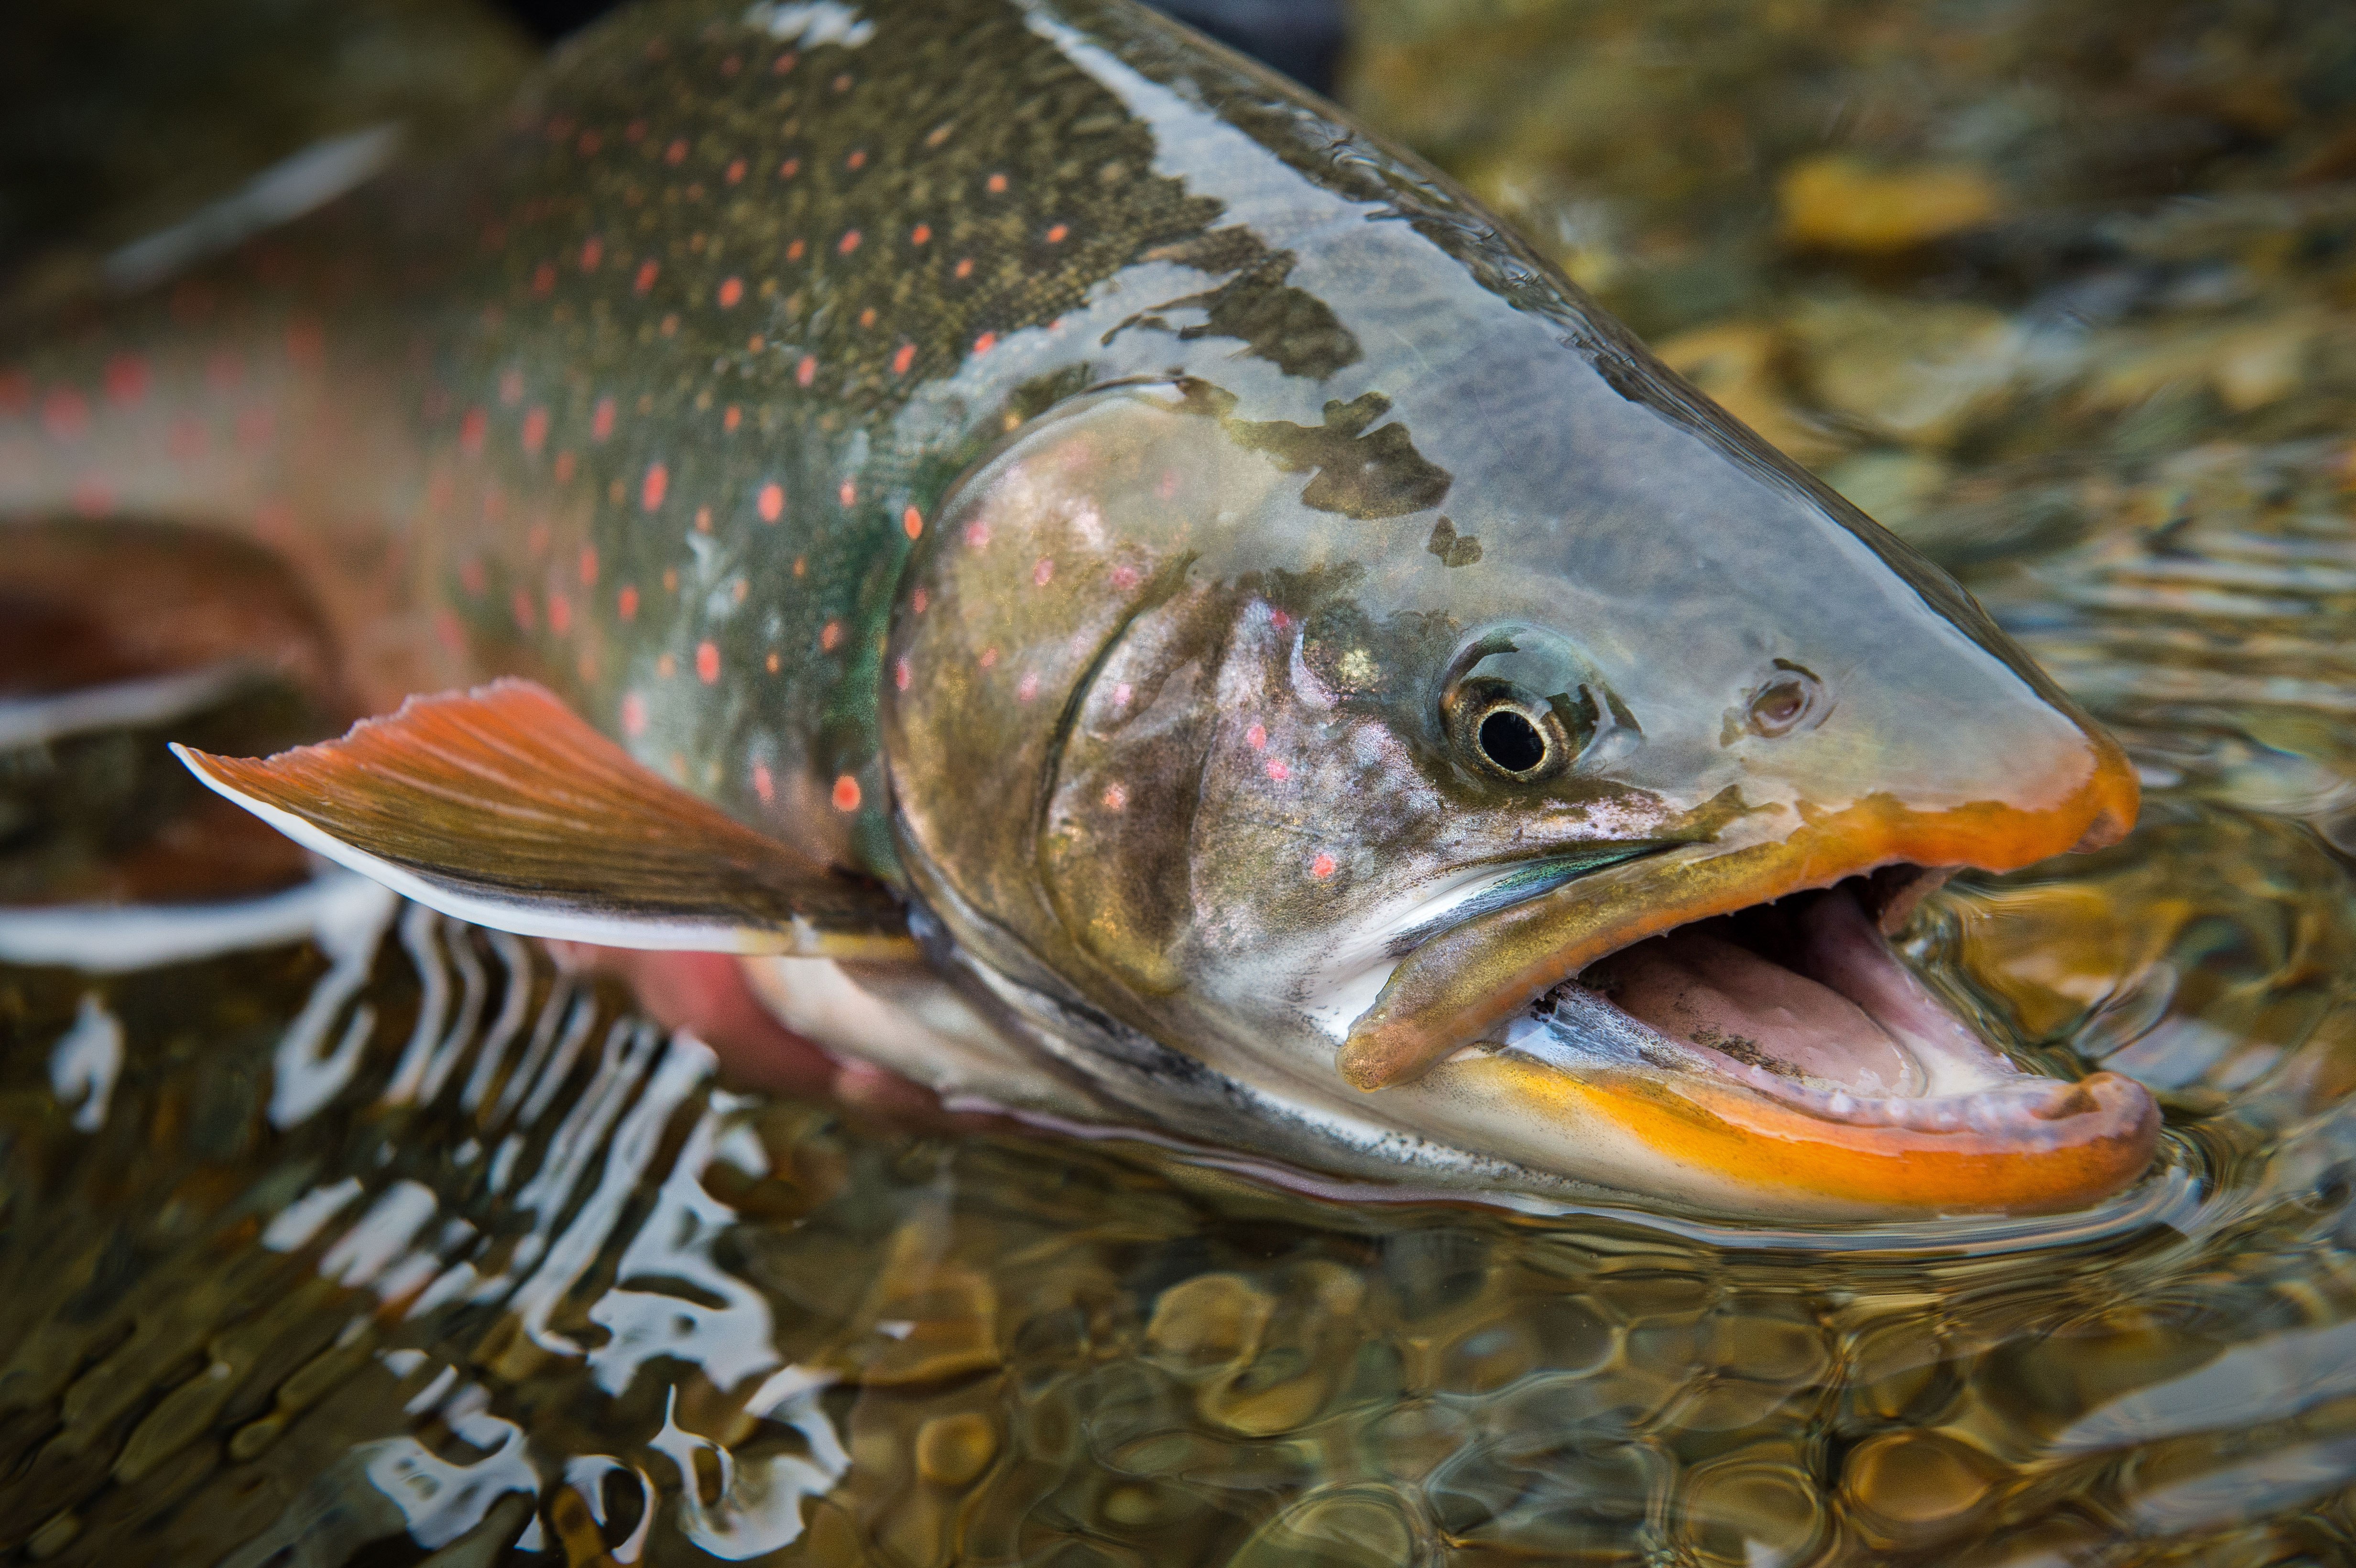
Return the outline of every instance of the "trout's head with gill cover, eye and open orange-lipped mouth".
{"type": "Polygon", "coordinates": [[[1798,1217],[2135,1180],[2139,1085],[2019,1071],[1885,935],[2125,833],[2118,746],[1734,426],[1388,412],[1110,386],[952,490],[884,732],[959,939],[1376,1161],[1798,1217]]]}

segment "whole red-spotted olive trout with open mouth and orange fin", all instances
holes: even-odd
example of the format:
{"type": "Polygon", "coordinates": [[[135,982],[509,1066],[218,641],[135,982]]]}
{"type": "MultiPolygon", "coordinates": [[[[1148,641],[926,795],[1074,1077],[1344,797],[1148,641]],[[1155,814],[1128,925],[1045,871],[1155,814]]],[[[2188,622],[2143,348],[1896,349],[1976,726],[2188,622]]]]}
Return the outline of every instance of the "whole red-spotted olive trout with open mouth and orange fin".
{"type": "Polygon", "coordinates": [[[2139,1083],[1892,946],[2125,836],[2118,744],[1331,104],[1131,0],[648,0],[401,148],[0,330],[0,591],[332,671],[342,739],[179,749],[297,843],[1270,1170],[1845,1222],[2151,1165],[2139,1083]]]}

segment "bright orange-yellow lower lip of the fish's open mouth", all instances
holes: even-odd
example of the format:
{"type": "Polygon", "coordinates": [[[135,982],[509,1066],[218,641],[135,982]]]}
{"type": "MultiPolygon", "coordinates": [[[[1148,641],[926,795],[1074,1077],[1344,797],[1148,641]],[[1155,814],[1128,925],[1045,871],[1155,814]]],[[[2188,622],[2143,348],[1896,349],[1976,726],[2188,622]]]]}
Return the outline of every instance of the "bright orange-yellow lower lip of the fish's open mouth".
{"type": "Polygon", "coordinates": [[[1562,1125],[1607,1123],[1769,1208],[1880,1215],[2083,1208],[2135,1182],[2160,1135],[2151,1095],[2116,1074],[2085,1078],[2073,1114],[2007,1137],[1824,1121],[1706,1076],[1571,1076],[1515,1057],[1463,1067],[1503,1076],[1508,1092],[1538,1116],[1562,1125]]]}

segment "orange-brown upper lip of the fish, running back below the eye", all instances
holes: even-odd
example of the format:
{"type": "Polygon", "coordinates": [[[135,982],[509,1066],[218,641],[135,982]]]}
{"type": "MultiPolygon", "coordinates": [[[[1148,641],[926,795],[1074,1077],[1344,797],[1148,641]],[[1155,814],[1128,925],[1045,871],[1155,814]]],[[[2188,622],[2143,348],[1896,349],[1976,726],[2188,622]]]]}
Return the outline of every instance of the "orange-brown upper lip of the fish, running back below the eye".
{"type": "Polygon", "coordinates": [[[1336,1067],[1362,1090],[1402,1083],[1633,942],[1878,866],[2014,871],[2116,843],[2135,824],[2135,768],[2109,737],[2087,742],[2087,779],[2050,808],[1979,800],[1925,812],[1875,793],[1838,812],[1802,808],[1800,829],[1779,843],[1630,862],[1465,921],[1399,961],[1336,1067]]]}

